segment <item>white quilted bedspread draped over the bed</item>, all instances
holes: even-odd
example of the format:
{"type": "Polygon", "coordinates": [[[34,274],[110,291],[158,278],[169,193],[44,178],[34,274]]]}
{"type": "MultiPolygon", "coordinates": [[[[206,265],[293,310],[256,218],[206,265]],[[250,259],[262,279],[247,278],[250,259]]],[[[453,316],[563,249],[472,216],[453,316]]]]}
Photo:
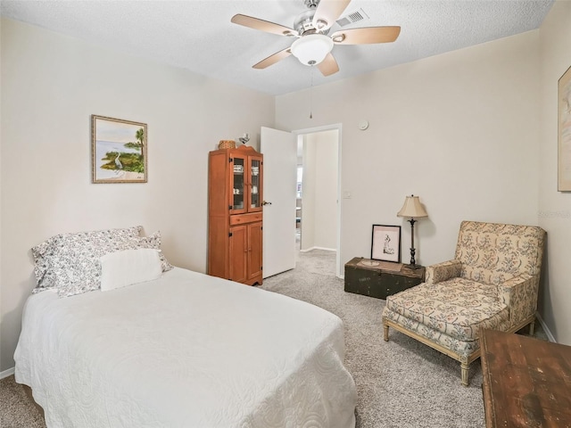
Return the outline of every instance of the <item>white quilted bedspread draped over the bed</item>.
{"type": "Polygon", "coordinates": [[[175,268],[29,297],[14,358],[52,427],[350,427],[343,325],[308,303],[175,268]]]}

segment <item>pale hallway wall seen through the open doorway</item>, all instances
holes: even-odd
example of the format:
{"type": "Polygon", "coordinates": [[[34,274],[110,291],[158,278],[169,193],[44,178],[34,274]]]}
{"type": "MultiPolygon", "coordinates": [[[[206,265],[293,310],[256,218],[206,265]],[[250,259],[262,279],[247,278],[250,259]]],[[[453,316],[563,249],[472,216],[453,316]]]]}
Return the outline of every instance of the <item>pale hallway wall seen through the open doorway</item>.
{"type": "Polygon", "coordinates": [[[337,246],[337,129],[304,136],[301,249],[337,246]]]}

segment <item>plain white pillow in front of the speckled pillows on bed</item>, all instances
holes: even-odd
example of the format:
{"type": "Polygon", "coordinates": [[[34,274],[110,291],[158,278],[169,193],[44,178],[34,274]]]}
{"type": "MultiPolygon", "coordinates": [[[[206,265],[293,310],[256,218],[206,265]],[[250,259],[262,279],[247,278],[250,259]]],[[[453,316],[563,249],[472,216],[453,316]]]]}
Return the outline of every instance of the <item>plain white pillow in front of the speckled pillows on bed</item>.
{"type": "Polygon", "coordinates": [[[151,248],[115,251],[101,262],[101,291],[157,279],[162,274],[159,251],[151,248]]]}

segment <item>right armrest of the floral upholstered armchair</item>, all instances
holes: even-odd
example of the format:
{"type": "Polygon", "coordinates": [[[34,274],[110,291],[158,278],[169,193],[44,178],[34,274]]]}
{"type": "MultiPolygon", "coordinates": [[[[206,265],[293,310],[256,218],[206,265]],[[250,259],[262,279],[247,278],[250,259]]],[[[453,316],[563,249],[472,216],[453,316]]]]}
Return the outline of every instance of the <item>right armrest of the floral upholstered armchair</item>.
{"type": "Polygon", "coordinates": [[[516,325],[537,309],[539,275],[521,274],[498,284],[498,298],[509,308],[509,323],[516,325]]]}

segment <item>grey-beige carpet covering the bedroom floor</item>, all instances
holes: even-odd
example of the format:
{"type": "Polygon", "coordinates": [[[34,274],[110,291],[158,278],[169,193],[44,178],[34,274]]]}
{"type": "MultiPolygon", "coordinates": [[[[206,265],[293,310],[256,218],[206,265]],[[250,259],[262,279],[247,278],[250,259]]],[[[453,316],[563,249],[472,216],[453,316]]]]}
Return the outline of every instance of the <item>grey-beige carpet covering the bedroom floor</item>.
{"type": "MultiPolygon", "coordinates": [[[[308,301],[343,319],[345,365],[358,392],[357,428],[484,427],[480,360],[470,366],[470,385],[464,387],[459,363],[452,358],[393,330],[385,342],[385,300],[344,292],[343,280],[335,277],[335,252],[300,253],[296,268],[265,279],[261,288],[308,301]]],[[[535,335],[546,339],[537,327],[535,335]]],[[[0,426],[46,426],[13,375],[0,381],[0,426]]]]}

